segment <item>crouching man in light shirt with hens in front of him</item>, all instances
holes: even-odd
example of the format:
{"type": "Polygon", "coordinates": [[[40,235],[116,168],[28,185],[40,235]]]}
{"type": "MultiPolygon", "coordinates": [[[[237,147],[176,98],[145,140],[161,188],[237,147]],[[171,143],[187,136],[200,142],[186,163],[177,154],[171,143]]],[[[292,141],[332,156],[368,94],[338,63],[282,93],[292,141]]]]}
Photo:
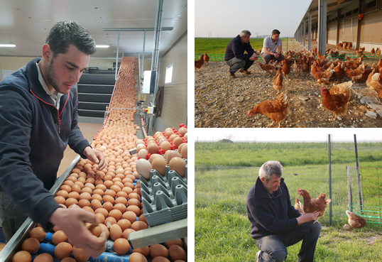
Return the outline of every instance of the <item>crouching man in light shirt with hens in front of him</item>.
{"type": "Polygon", "coordinates": [[[271,60],[281,62],[284,60],[282,41],[280,39],[280,31],[277,29],[272,31],[272,36],[264,38],[263,49],[261,49],[261,57],[268,64],[271,60]],[[277,51],[276,51],[277,49],[277,51]]]}

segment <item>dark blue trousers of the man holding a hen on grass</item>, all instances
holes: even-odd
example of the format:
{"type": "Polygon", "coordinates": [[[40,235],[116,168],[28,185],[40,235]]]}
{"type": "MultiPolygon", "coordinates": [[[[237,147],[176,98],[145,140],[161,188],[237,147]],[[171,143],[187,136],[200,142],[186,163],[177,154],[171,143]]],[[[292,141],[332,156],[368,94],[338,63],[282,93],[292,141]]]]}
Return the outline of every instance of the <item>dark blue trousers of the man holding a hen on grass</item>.
{"type": "Polygon", "coordinates": [[[262,236],[255,239],[256,246],[261,250],[258,261],[285,261],[288,255],[287,246],[292,246],[302,240],[298,253],[298,262],[313,261],[321,225],[315,221],[299,224],[282,234],[262,236]]]}

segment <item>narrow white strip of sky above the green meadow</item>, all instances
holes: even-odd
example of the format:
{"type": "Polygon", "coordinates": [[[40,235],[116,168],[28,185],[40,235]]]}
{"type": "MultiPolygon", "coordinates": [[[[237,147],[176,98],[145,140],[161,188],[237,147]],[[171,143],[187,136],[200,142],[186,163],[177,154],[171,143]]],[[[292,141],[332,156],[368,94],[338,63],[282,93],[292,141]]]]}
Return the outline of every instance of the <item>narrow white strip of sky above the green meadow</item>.
{"type": "Polygon", "coordinates": [[[195,129],[195,141],[326,142],[328,133],[334,142],[354,142],[354,134],[359,143],[382,142],[378,129],[195,129]]]}

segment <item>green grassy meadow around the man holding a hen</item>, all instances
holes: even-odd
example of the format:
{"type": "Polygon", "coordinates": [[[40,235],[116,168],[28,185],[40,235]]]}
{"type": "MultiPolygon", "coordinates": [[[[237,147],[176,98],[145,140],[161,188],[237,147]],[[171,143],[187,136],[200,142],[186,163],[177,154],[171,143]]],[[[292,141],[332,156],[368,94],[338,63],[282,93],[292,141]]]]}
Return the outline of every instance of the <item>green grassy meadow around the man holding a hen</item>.
{"type": "MultiPolygon", "coordinates": [[[[364,211],[382,207],[382,143],[359,143],[364,211]],[[381,181],[381,182],[380,182],[381,181]]],[[[256,244],[246,217],[246,193],[266,160],[279,160],[291,201],[302,189],[329,197],[329,168],[325,143],[195,143],[195,261],[255,261],[256,244]]],[[[353,143],[332,146],[332,226],[329,212],[320,218],[322,233],[315,261],[382,261],[381,221],[367,219],[362,229],[344,231],[348,209],[347,171],[351,165],[354,209],[359,207],[353,143]]],[[[356,210],[357,211],[357,210],[356,210]]],[[[366,214],[366,213],[365,213],[366,214]]],[[[369,214],[369,213],[368,213],[369,214]]],[[[366,215],[368,215],[366,214],[366,215]]],[[[371,213],[370,213],[371,214],[371,213]]],[[[296,261],[301,242],[288,247],[286,261],[296,261]]]]}

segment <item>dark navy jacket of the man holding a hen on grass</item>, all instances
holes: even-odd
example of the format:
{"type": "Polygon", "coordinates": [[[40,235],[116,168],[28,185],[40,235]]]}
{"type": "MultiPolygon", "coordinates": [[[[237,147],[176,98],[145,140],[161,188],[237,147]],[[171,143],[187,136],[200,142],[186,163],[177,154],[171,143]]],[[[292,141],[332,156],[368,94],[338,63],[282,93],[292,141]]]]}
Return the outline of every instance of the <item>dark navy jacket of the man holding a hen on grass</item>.
{"type": "Polygon", "coordinates": [[[251,236],[254,238],[280,234],[298,226],[300,217],[290,202],[288,188],[284,178],[273,194],[268,193],[260,178],[246,195],[246,212],[251,222],[251,236]]]}

